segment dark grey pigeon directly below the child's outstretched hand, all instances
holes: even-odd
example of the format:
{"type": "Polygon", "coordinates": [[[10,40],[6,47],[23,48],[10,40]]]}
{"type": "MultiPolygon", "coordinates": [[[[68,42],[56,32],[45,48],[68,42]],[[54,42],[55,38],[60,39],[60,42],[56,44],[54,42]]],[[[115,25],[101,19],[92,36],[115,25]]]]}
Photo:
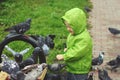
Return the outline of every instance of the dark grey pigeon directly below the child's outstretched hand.
{"type": "Polygon", "coordinates": [[[65,66],[66,66],[65,64],[54,63],[54,64],[51,64],[51,65],[48,65],[48,69],[52,72],[57,73],[65,66]]]}

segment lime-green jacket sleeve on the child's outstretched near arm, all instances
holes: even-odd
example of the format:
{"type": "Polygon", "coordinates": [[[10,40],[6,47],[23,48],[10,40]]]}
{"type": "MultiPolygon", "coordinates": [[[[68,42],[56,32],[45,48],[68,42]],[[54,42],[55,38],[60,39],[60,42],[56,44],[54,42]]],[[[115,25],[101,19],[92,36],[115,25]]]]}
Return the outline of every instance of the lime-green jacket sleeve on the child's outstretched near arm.
{"type": "MultiPolygon", "coordinates": [[[[65,61],[74,61],[81,59],[89,52],[89,43],[85,41],[76,42],[63,55],[65,61]]],[[[89,54],[89,53],[88,53],[89,54]]]]}

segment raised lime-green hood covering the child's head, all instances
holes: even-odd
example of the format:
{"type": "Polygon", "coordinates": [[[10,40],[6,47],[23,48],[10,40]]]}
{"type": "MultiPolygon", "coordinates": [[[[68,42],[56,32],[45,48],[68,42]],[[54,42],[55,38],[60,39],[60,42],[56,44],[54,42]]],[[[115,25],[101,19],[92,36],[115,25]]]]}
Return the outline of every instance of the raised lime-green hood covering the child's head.
{"type": "Polygon", "coordinates": [[[83,10],[73,8],[62,17],[72,27],[74,34],[79,34],[86,29],[86,15],[83,10]]]}

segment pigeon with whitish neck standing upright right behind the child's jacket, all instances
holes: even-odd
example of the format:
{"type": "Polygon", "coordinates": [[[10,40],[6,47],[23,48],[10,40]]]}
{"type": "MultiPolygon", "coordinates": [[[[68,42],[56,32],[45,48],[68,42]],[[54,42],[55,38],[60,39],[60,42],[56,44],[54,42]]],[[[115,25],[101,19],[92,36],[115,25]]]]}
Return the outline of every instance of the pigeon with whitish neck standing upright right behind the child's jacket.
{"type": "Polygon", "coordinates": [[[100,52],[97,58],[92,59],[92,65],[101,65],[103,63],[104,52],[100,52]]]}

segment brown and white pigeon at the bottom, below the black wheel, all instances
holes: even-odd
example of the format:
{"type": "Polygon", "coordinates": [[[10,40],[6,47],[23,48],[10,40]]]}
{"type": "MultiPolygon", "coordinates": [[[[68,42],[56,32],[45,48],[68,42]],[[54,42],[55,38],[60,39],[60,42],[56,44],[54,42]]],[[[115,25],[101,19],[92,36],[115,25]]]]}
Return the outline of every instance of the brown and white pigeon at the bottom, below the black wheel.
{"type": "Polygon", "coordinates": [[[17,72],[17,79],[15,80],[37,80],[46,67],[46,63],[26,66],[17,72]]]}

